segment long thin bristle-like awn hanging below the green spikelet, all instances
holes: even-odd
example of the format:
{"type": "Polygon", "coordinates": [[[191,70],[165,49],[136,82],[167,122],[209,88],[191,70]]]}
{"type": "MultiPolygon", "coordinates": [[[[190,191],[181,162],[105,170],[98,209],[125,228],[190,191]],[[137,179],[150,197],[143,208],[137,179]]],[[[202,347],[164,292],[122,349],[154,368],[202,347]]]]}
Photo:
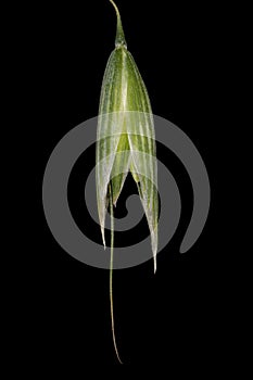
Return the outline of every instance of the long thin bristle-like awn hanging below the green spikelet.
{"type": "Polygon", "coordinates": [[[110,214],[111,214],[111,259],[110,259],[110,305],[111,305],[111,321],[112,321],[112,333],[113,333],[113,345],[117,356],[117,359],[121,364],[121,357],[117,351],[115,330],[114,330],[114,313],[113,313],[113,246],[114,246],[114,216],[113,216],[113,192],[112,183],[109,186],[110,192],[110,214]]]}

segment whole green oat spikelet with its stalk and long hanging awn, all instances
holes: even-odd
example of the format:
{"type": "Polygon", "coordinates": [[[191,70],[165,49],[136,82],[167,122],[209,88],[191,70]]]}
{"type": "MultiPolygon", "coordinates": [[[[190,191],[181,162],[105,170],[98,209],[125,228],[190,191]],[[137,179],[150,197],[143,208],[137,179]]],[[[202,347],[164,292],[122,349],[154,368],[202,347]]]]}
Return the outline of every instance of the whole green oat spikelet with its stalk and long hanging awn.
{"type": "MultiPolygon", "coordinates": [[[[157,251],[157,168],[153,116],[149,96],[132,55],[127,50],[122,21],[115,3],[117,31],[115,50],[111,53],[102,83],[97,134],[97,200],[101,232],[104,240],[106,208],[111,210],[111,313],[113,268],[113,204],[130,172],[137,182],[147,216],[156,270],[157,251]]],[[[118,356],[119,359],[119,356],[118,356]]],[[[121,360],[121,359],[119,359],[121,360]]]]}

